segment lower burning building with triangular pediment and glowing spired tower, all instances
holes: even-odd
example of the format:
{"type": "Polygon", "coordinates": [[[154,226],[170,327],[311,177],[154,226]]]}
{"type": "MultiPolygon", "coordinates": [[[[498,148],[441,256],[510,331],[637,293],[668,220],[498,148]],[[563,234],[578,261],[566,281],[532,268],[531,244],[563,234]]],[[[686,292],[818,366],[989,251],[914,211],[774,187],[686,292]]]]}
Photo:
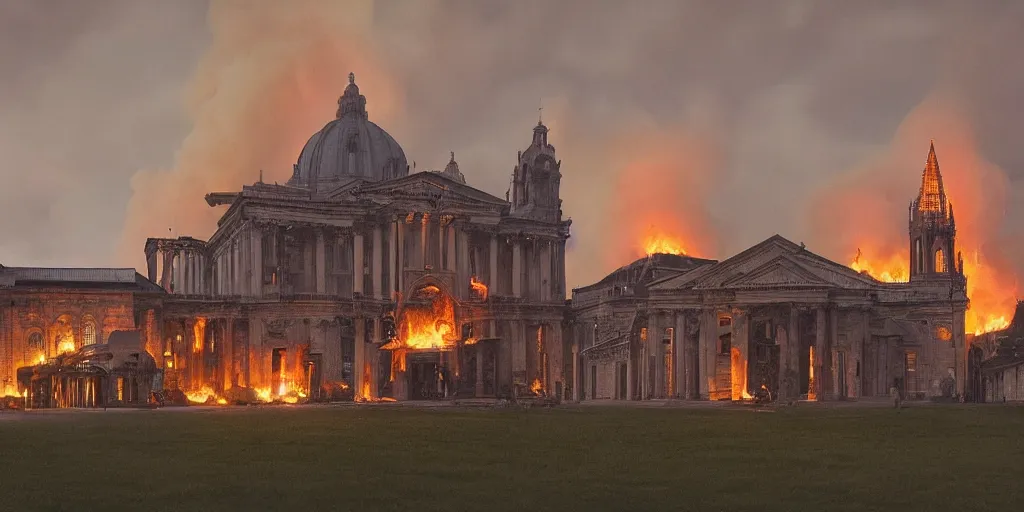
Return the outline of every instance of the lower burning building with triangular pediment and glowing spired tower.
{"type": "Polygon", "coordinates": [[[923,174],[908,283],[776,234],[723,261],[654,254],[573,290],[574,397],[963,395],[967,279],[934,146],[923,174]]]}

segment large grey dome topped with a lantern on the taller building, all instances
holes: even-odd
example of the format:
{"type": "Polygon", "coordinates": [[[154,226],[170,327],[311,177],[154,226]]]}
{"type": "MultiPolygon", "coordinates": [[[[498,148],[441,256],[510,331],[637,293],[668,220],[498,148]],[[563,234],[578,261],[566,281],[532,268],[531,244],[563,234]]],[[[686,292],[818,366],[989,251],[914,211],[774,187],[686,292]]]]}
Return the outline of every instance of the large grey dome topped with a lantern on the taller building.
{"type": "Polygon", "coordinates": [[[409,174],[406,153],[394,137],[367,119],[367,98],[355,75],[338,99],[337,119],[309,137],[290,184],[319,188],[347,179],[381,181],[409,174]]]}

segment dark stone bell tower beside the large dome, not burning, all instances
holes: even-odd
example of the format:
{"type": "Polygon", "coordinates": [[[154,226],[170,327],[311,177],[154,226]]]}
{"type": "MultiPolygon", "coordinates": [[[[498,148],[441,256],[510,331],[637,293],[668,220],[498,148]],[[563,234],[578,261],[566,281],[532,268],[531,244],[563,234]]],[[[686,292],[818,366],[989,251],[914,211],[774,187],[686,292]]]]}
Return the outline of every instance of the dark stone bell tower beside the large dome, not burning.
{"type": "Polygon", "coordinates": [[[546,222],[560,221],[561,166],[561,161],[555,158],[555,146],[548,143],[548,127],[538,120],[534,140],[526,151],[519,152],[519,162],[512,173],[512,215],[546,222]]]}

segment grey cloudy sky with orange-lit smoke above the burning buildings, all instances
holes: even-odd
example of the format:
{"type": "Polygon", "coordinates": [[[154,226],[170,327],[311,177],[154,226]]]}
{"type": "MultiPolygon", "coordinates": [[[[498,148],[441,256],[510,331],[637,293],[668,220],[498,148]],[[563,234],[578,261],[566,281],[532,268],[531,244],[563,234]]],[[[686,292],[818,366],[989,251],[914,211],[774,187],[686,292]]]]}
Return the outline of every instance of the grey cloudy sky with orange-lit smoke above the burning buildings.
{"type": "Polygon", "coordinates": [[[203,196],[287,180],[352,72],[418,169],[499,197],[543,106],[570,287],[650,229],[888,258],[931,139],[965,258],[1024,271],[1024,3],[642,3],[0,0],[0,263],[209,237],[203,196]]]}

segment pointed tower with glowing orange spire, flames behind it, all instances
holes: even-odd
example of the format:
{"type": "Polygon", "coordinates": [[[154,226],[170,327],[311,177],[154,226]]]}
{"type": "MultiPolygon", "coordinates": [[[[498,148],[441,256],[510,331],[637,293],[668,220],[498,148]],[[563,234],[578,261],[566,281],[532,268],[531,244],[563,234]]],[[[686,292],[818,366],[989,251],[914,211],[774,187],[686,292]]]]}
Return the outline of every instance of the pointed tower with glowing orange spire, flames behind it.
{"type": "Polygon", "coordinates": [[[955,252],[956,221],[942,186],[934,140],[922,173],[921,191],[910,203],[909,213],[910,281],[963,275],[964,260],[955,252]]]}

